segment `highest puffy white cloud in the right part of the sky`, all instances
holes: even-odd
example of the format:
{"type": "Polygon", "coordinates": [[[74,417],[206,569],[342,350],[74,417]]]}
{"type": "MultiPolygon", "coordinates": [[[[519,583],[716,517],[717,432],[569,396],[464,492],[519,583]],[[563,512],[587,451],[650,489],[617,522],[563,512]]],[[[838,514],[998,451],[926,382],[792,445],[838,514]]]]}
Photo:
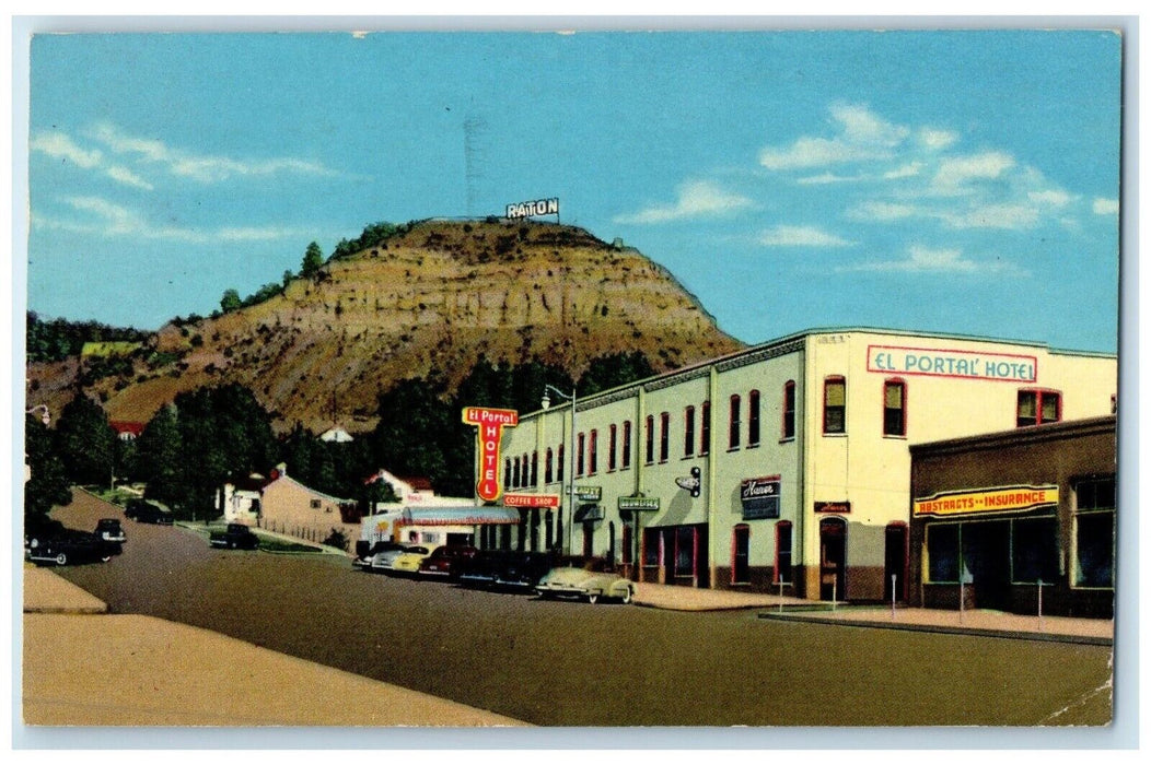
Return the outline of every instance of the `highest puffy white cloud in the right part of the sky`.
{"type": "Polygon", "coordinates": [[[882,120],[866,106],[833,106],[831,116],[838,135],[832,138],[803,136],[790,146],[768,146],[760,152],[760,165],[769,170],[795,170],[886,159],[910,133],[907,128],[882,120]]]}

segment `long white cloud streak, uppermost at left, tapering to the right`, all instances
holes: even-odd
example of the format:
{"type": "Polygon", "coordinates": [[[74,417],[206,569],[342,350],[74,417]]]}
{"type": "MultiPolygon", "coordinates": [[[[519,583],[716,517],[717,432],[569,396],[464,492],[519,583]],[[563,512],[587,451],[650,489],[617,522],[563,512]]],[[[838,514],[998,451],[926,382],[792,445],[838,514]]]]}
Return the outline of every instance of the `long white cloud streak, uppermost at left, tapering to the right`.
{"type": "Polygon", "coordinates": [[[146,165],[159,165],[171,175],[192,178],[200,183],[219,183],[234,176],[268,176],[280,173],[337,175],[318,162],[290,156],[239,160],[230,156],[195,154],[168,146],[161,140],[129,136],[108,122],[97,124],[92,130],[92,137],[115,154],[125,154],[146,165]]]}

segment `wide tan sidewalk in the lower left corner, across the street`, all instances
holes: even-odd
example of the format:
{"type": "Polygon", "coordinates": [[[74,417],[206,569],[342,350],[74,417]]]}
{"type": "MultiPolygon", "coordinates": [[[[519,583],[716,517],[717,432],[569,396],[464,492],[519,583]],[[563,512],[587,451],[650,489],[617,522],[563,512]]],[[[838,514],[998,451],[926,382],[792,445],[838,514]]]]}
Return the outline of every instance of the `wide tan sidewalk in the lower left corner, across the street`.
{"type": "Polygon", "coordinates": [[[24,567],[23,719],[45,726],[523,726],[216,633],[24,567]]]}

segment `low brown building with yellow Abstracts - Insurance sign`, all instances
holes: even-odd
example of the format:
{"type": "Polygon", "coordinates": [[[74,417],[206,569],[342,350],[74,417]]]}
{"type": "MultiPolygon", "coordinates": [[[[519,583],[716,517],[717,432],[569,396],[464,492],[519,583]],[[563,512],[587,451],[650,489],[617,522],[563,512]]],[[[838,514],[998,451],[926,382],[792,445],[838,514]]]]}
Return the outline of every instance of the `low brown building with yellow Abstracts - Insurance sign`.
{"type": "Polygon", "coordinates": [[[910,452],[910,605],[1113,615],[1114,415],[910,452]]]}

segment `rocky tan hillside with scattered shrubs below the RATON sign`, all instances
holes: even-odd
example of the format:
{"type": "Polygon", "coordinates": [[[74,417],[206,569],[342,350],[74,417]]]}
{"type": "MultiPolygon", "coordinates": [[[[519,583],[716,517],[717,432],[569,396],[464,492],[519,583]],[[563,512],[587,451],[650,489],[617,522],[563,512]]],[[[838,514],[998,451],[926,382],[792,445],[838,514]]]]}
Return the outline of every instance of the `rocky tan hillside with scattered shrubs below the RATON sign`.
{"type": "MultiPolygon", "coordinates": [[[[168,324],[130,373],[105,369],[86,384],[113,420],[146,421],[180,391],[238,382],[280,426],[319,431],[335,420],[355,431],[374,424],[376,396],[394,382],[439,369],[455,387],[481,353],[578,375],[618,351],[671,369],[738,347],[635,250],[559,224],[426,221],[264,303],[168,324]]],[[[29,406],[59,412],[79,369],[75,359],[30,365],[29,406]]]]}

